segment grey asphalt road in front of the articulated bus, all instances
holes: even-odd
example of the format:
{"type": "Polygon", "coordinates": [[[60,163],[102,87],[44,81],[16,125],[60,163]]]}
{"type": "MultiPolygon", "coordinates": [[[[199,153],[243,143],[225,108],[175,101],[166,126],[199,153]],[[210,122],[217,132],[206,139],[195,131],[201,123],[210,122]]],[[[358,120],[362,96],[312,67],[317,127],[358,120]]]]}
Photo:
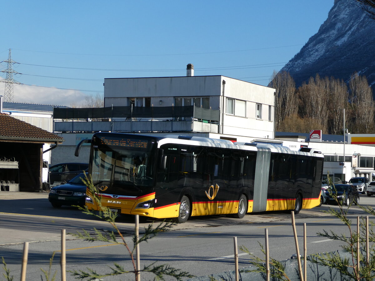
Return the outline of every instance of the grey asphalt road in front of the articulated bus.
{"type": "MultiPolygon", "coordinates": [[[[12,270],[15,280],[20,277],[23,242],[28,241],[29,256],[27,280],[41,280],[40,268],[48,269],[48,262],[55,252],[52,269],[59,272],[60,233],[93,227],[110,230],[108,223],[93,220],[72,207],[54,209],[48,202],[48,194],[6,194],[0,195],[0,256],[3,256],[12,270]]],[[[360,196],[362,205],[375,204],[374,197],[360,196]]],[[[321,212],[329,207],[323,205],[312,210],[302,210],[296,215],[297,233],[300,251],[303,251],[303,223],[307,224],[308,254],[337,250],[341,242],[328,241],[319,237],[318,231],[333,230],[347,232],[342,222],[321,212]]],[[[349,216],[356,221],[357,215],[366,215],[355,206],[348,210],[349,216]]],[[[193,275],[202,276],[234,270],[233,237],[238,245],[244,245],[256,256],[263,256],[258,242],[264,244],[264,230],[269,232],[270,254],[273,258],[284,260],[296,253],[291,227],[291,216],[287,212],[267,212],[248,214],[243,219],[225,216],[196,217],[187,223],[179,224],[170,232],[161,233],[148,243],[141,244],[141,268],[143,265],[168,264],[181,268],[193,275]]],[[[141,220],[141,227],[151,221],[141,220]]],[[[117,222],[121,232],[126,235],[126,242],[132,245],[131,235],[134,229],[133,217],[120,217],[117,222]]],[[[67,236],[67,269],[95,269],[108,272],[108,266],[119,263],[131,270],[132,263],[124,246],[108,242],[87,242],[67,236]]],[[[251,256],[240,253],[240,268],[249,266],[251,256]]],[[[0,270],[0,274],[1,274],[0,270]]],[[[142,280],[152,280],[148,274],[141,275],[142,280]]],[[[60,280],[58,277],[57,280],[60,280]]],[[[67,280],[75,280],[69,273],[67,280]]],[[[105,277],[102,280],[134,280],[133,275],[105,277]]],[[[167,278],[167,280],[173,280],[167,278]]]]}

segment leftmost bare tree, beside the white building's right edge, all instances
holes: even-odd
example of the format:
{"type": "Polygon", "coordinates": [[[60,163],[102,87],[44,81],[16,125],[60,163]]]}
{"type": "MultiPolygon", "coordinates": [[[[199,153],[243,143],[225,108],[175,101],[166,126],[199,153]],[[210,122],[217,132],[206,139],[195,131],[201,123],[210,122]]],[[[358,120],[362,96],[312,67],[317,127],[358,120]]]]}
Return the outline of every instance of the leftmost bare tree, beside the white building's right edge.
{"type": "Polygon", "coordinates": [[[298,112],[296,83],[289,72],[273,72],[273,79],[269,87],[276,89],[275,122],[276,130],[282,130],[285,118],[295,116],[298,112]]]}

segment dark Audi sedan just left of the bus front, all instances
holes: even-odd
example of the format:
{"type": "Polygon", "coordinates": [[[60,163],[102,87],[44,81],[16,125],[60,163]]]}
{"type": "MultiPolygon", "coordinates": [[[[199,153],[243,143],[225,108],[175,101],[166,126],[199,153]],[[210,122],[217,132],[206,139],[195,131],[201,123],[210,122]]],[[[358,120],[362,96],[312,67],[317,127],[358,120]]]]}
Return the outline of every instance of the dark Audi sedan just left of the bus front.
{"type": "Polygon", "coordinates": [[[86,185],[82,181],[84,178],[84,173],[80,173],[66,184],[52,187],[48,195],[52,206],[54,208],[60,208],[62,205],[84,206],[86,200],[86,185]]]}

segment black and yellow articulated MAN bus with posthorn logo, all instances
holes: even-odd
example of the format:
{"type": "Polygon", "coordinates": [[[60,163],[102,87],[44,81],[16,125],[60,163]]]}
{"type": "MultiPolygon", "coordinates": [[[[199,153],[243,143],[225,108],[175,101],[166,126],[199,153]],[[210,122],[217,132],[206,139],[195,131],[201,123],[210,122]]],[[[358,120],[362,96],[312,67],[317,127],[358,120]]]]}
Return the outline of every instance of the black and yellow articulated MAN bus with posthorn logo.
{"type": "MultiPolygon", "coordinates": [[[[89,174],[103,206],[173,218],[310,209],[320,203],[323,154],[222,139],[95,133],[89,174]]],[[[78,144],[75,155],[78,156],[78,144]]],[[[87,192],[86,206],[98,210],[87,192]]]]}

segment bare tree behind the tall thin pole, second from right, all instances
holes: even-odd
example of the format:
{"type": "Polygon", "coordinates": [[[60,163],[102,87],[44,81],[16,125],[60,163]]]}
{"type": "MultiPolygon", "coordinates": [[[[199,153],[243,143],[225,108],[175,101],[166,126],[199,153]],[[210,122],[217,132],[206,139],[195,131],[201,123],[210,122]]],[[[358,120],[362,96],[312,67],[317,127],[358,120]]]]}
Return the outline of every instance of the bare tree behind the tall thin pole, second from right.
{"type": "MultiPolygon", "coordinates": [[[[348,106],[349,93],[344,80],[326,77],[328,85],[328,112],[329,132],[333,135],[341,135],[344,127],[344,109],[348,106]]],[[[346,126],[345,126],[346,127],[346,126]]]]}

